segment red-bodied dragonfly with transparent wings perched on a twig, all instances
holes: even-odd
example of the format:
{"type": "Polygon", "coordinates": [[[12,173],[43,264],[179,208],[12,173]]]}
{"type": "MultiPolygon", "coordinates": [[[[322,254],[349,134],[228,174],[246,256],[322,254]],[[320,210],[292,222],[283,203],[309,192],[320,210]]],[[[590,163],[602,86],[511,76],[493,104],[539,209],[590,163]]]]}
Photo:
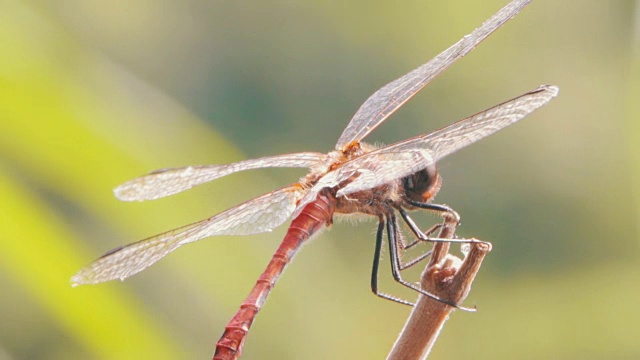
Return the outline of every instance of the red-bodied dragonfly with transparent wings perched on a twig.
{"type": "MultiPolygon", "coordinates": [[[[239,171],[259,168],[308,168],[299,181],[232,207],[208,219],[118,247],[80,270],[72,284],[95,284],[124,280],[156,263],[182,245],[214,235],[250,235],[267,232],[293,218],[286,235],[266,270],[226,325],[216,344],[214,359],[237,359],[253,321],[278,277],[301,245],[320,229],[330,226],[334,215],[366,214],[377,218],[376,247],[371,276],[372,291],[383,298],[411,304],[378,290],[378,264],[386,239],[392,274],[396,281],[442,301],[402,278],[399,252],[409,245],[402,237],[404,221],[418,240],[432,241],[409,212],[427,210],[455,216],[446,205],[432,202],[442,179],[436,163],[498,130],[524,118],[558,94],[558,87],[542,85],[449,126],[384,147],[362,140],[406,101],[452,63],[515,16],[530,0],[515,0],[499,10],[479,28],[429,62],[390,82],[371,95],[357,110],[327,154],[300,152],[226,165],[187,166],[162,169],[128,181],[114,193],[123,201],[158,199],[239,171]]],[[[449,241],[449,240],[447,240],[449,241]]],[[[428,255],[428,254],[427,254],[428,255]]],[[[423,256],[424,257],[424,256],[423,256]]]]}

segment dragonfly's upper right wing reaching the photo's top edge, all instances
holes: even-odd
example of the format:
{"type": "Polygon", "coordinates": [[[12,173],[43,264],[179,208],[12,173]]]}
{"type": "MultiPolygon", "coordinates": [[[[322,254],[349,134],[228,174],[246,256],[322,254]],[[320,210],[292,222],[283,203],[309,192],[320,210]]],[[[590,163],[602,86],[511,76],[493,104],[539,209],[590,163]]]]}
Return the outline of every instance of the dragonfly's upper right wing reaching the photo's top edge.
{"type": "Polygon", "coordinates": [[[338,139],[336,149],[345,151],[354,142],[362,140],[431,80],[473,50],[478,43],[514,17],[530,1],[512,1],[471,34],[466,35],[426,64],[376,91],[355,113],[338,139]]]}

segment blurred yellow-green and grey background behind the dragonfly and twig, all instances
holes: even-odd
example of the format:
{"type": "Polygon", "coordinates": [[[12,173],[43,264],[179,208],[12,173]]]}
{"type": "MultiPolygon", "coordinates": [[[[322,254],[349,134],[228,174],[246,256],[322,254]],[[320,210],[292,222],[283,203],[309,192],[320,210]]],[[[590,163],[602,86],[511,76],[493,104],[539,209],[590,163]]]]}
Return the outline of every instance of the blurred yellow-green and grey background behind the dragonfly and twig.
{"type": "MultiPolygon", "coordinates": [[[[0,359],[210,358],[286,226],[191,244],[123,283],[69,278],[305,170],[143,203],[111,190],[158,168],[327,152],[371,93],[506,3],[0,0],[0,359]]],[[[479,311],[454,313],[431,358],[640,358],[639,11],[536,0],[368,137],[561,89],[439,164],[437,202],[494,247],[466,302],[479,311]]],[[[370,292],[375,228],[337,222],[308,244],[244,358],[384,358],[410,309],[370,292]]]]}

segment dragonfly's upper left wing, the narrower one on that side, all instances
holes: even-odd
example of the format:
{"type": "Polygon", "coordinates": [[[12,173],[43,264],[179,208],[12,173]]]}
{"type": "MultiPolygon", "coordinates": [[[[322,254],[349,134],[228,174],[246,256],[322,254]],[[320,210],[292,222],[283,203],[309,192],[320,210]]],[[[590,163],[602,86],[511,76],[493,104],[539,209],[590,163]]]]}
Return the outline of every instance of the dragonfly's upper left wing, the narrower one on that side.
{"type": "Polygon", "coordinates": [[[268,167],[312,167],[324,154],[304,152],[267,156],[226,165],[186,166],[156,170],[148,175],[127,181],[113,192],[123,201],[153,200],[191,189],[196,185],[244,170],[268,167]]]}

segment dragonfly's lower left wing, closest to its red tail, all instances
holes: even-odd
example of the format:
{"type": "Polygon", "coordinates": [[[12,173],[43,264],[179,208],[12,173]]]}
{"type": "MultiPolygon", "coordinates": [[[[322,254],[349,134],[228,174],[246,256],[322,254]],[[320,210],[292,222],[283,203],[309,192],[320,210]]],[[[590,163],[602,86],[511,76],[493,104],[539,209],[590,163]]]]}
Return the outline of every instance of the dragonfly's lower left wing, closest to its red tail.
{"type": "Polygon", "coordinates": [[[80,270],[72,284],[124,280],[153,265],[180,246],[213,235],[249,235],[271,231],[296,208],[305,190],[293,184],[249,200],[211,218],[116,248],[80,270]]]}

